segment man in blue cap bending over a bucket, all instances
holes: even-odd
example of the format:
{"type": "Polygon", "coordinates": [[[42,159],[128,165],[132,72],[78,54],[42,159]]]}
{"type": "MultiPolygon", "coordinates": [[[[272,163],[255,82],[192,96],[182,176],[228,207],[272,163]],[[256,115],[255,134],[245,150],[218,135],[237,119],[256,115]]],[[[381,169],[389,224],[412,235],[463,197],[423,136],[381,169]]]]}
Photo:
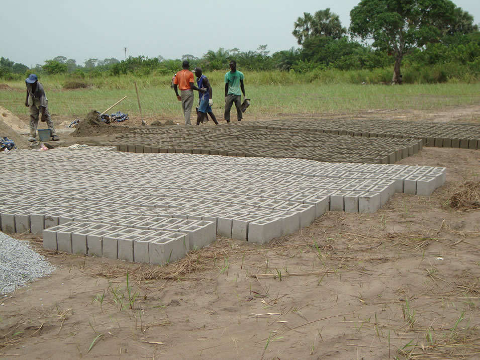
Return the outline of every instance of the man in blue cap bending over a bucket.
{"type": "Polygon", "coordinates": [[[30,74],[30,76],[25,79],[25,84],[27,85],[25,106],[30,108],[30,137],[28,141],[36,141],[35,137],[37,135],[38,116],[40,113],[42,114],[41,121],[47,122],[48,128],[52,131],[52,140],[60,140],[55,132],[52,117],[48,112],[48,99],[45,96],[45,89],[43,85],[38,82],[38,76],[30,74]]]}

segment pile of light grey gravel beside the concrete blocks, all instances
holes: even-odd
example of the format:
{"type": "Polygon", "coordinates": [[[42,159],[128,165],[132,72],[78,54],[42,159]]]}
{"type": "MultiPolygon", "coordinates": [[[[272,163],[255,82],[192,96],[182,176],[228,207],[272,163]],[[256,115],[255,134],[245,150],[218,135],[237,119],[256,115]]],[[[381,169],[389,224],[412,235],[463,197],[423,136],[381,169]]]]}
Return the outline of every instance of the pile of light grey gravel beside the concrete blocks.
{"type": "Polygon", "coordinates": [[[0,232],[0,294],[50,274],[55,267],[28,246],[0,232]]]}

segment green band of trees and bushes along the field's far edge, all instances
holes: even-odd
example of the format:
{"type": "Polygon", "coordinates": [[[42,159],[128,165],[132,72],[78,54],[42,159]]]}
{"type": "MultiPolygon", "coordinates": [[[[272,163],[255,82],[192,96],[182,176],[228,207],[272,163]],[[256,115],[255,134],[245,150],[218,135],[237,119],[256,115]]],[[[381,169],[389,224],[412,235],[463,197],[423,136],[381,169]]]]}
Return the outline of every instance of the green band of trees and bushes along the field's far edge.
{"type": "MultiPolygon", "coordinates": [[[[259,45],[256,50],[246,52],[238,48],[208,50],[201,58],[191,54],[184,54],[181,59],[91,58],[83,66],[74,59],[57,56],[32,69],[2,57],[0,78],[18,81],[31,72],[39,76],[68,74],[69,81],[63,85],[77,88],[100,84],[103,81],[99,78],[172,75],[181,69],[181,61],[185,59],[190,61],[191,68],[201,66],[204,72],[226,71],[229,61],[235,59],[241,71],[279,70],[275,76],[259,75],[259,78],[280,83],[282,79],[328,81],[328,76],[350,83],[480,80],[480,33],[471,15],[449,0],[413,0],[399,8],[392,7],[393,3],[398,2],[362,0],[350,13],[350,37],[338,15],[330,9],[313,15],[304,13],[293,30],[301,47],[273,54],[267,45],[259,45]],[[285,76],[286,73],[295,76],[285,76]]],[[[127,48],[124,50],[126,54],[127,48]]]]}

